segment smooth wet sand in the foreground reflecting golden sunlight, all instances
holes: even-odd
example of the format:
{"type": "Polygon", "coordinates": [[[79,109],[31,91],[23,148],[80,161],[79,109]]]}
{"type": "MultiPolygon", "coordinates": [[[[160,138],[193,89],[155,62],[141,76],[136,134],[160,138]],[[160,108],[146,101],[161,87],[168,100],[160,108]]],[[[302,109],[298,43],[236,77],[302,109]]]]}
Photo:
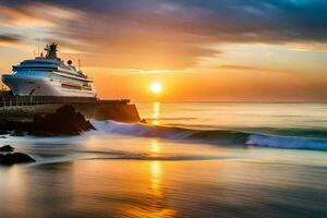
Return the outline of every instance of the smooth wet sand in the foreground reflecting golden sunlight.
{"type": "Polygon", "coordinates": [[[0,178],[5,218],[327,216],[327,168],[310,165],[77,160],[2,168],[0,178]]]}

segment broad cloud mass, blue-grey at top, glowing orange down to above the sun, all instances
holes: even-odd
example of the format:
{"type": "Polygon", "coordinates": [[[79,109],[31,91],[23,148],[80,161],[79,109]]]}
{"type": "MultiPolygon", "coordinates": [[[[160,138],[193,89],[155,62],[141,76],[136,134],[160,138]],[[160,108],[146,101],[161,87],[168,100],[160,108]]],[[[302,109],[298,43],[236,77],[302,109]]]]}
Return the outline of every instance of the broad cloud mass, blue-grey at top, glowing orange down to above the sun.
{"type": "MultiPolygon", "coordinates": [[[[327,43],[325,0],[0,1],[99,66],[180,70],[217,44],[327,43]]],[[[22,20],[21,20],[22,21],[22,20]]],[[[37,31],[37,28],[35,28],[37,31]]]]}

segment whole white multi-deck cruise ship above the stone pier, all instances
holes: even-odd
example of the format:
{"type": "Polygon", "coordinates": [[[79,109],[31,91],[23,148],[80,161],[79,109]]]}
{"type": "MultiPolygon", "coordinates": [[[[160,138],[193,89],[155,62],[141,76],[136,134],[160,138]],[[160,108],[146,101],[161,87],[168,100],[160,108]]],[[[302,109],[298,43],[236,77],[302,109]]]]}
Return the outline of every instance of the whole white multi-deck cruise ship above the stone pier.
{"type": "Polygon", "coordinates": [[[96,98],[94,82],[82,71],[57,57],[57,44],[47,45],[43,53],[12,66],[12,74],[2,82],[14,96],[86,97],[96,98]]]}

